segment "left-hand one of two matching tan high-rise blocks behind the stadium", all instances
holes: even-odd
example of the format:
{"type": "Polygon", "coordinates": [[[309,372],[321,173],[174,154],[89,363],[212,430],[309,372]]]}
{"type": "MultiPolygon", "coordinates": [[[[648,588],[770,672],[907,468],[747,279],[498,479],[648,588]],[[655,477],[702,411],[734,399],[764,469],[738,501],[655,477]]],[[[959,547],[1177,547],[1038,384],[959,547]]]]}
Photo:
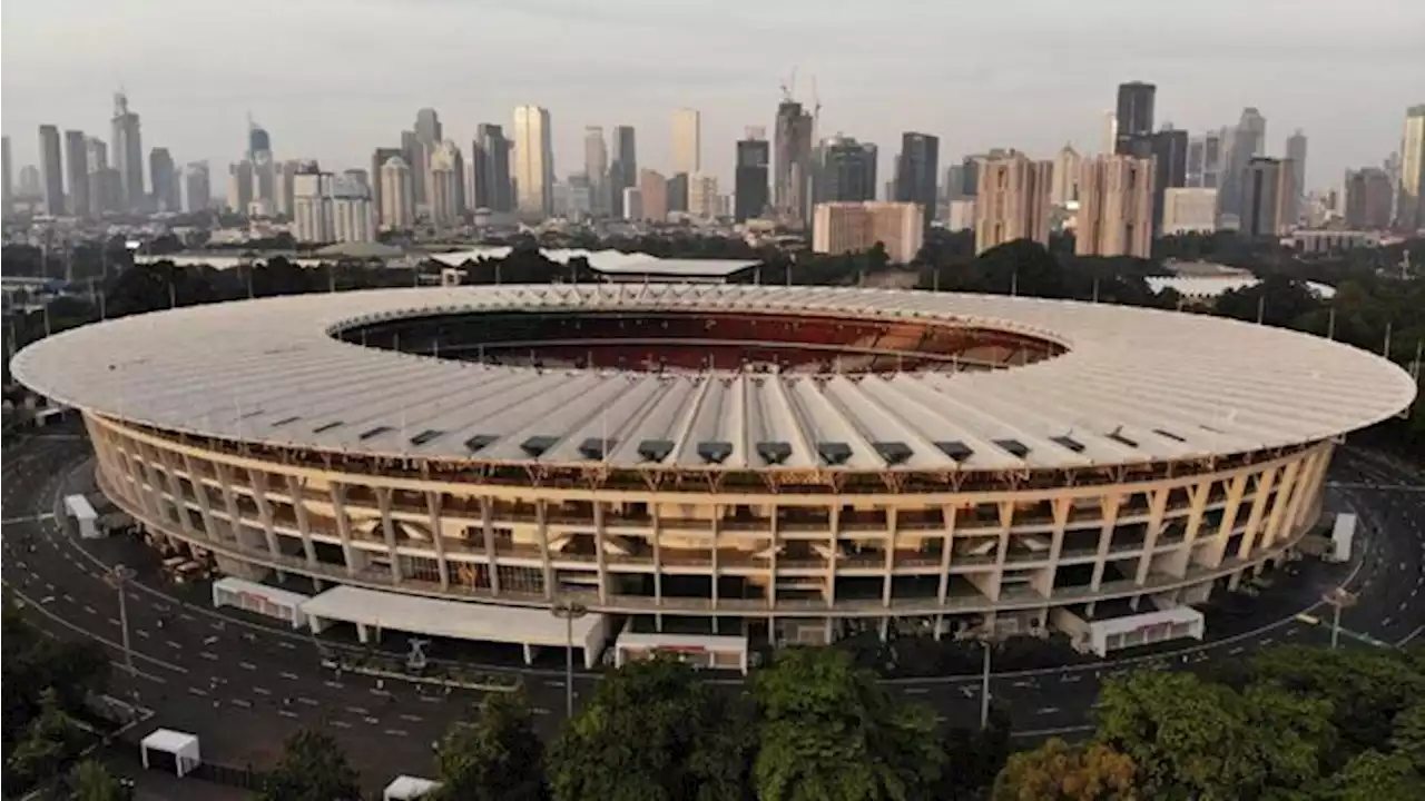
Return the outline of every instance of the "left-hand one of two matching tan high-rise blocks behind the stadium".
{"type": "MultiPolygon", "coordinates": [[[[998,151],[979,161],[979,185],[975,191],[976,254],[1015,239],[1049,244],[1053,171],[1052,161],[1032,161],[1015,150],[998,151]]],[[[1080,185],[1080,198],[1083,192],[1080,185]]]]}

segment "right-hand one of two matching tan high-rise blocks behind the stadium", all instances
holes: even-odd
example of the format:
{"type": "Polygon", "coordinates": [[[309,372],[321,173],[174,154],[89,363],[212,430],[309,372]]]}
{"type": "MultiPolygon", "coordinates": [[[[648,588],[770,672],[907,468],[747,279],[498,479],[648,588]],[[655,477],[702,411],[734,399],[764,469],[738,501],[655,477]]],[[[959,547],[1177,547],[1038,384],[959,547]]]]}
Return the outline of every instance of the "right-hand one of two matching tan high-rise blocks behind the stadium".
{"type": "Polygon", "coordinates": [[[1099,155],[1083,162],[1076,255],[1151,255],[1153,171],[1151,157],[1099,155]]]}

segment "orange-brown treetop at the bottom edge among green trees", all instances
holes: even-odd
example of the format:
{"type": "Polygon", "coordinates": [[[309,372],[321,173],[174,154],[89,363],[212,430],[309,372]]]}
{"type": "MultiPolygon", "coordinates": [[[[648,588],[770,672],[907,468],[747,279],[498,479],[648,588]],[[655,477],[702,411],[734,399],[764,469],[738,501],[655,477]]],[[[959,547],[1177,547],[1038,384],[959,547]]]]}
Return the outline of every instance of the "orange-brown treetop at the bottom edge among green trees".
{"type": "Polygon", "coordinates": [[[1009,758],[995,781],[995,801],[1137,801],[1133,760],[1092,743],[1069,745],[1057,737],[1009,758]]]}

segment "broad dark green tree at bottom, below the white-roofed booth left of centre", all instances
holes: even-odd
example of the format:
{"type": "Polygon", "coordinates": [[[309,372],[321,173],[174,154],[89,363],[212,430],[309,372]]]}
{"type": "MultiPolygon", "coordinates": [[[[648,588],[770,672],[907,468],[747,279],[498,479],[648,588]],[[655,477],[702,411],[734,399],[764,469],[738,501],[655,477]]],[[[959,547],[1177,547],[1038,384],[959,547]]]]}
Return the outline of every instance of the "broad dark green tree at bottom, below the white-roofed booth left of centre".
{"type": "Polygon", "coordinates": [[[630,664],[550,747],[550,790],[557,801],[744,801],[754,738],[747,704],[685,664],[630,664]]]}

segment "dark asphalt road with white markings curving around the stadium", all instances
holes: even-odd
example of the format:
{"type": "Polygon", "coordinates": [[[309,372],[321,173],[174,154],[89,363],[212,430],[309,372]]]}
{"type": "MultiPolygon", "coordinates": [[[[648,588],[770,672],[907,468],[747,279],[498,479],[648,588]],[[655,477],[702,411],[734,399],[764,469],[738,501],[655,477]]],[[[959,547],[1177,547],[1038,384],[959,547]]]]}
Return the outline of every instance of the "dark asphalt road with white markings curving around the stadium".
{"type": "MultiPolygon", "coordinates": [[[[212,610],[201,594],[177,590],[152,570],[148,549],[125,537],[78,542],[54,519],[58,496],[86,483],[87,445],[76,433],[47,433],[0,453],[0,586],[26,601],[24,614],[56,637],[87,637],[115,653],[118,694],[137,693],[158,714],[152,727],[194,731],[207,758],[229,765],[266,765],[284,737],[321,727],[348,750],[373,784],[398,772],[429,774],[430,743],[466,717],[479,693],[422,691],[402,681],[338,677],[319,666],[309,636],[234,610],[212,610]],[[117,590],[104,576],[114,563],[140,569],[127,590],[134,676],[123,667],[117,590]]],[[[1016,734],[1045,737],[1087,730],[1100,683],[1153,664],[1193,667],[1285,641],[1322,643],[1322,627],[1297,613],[1320,609],[1321,593],[1349,577],[1359,601],[1342,624],[1387,643],[1406,643],[1425,624],[1425,482],[1382,458],[1349,449],[1337,459],[1334,500],[1361,516],[1361,559],[1352,566],[1294,563],[1260,597],[1251,613],[1210,616],[1208,640],[1171,644],[1082,667],[996,674],[995,700],[1005,704],[1016,734]]],[[[395,640],[395,637],[392,637],[395,640]]],[[[563,718],[557,670],[523,671],[539,727],[551,733],[563,718]]],[[[587,693],[597,677],[576,677],[587,693]]],[[[722,680],[737,684],[735,680],[722,680]]],[[[911,698],[953,721],[978,721],[978,676],[889,681],[911,698]]]]}

